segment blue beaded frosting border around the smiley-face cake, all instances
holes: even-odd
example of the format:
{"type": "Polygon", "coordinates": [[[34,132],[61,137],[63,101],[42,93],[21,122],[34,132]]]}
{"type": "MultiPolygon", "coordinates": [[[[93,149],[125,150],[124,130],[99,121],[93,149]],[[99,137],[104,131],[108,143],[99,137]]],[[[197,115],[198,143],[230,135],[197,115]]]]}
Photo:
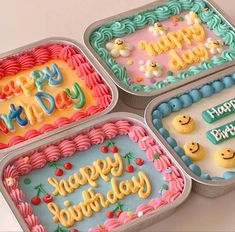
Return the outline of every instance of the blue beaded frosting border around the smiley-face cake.
{"type": "Polygon", "coordinates": [[[162,119],[173,112],[178,112],[183,108],[188,108],[194,103],[199,102],[203,98],[211,97],[227,88],[235,85],[235,73],[224,76],[211,83],[204,84],[200,88],[192,89],[189,92],[183,93],[180,96],[173,97],[166,102],[161,102],[152,111],[152,123],[154,127],[160,132],[162,137],[169,143],[175,152],[181,157],[182,161],[187,167],[197,176],[206,180],[225,180],[235,176],[233,171],[225,171],[223,177],[213,176],[203,172],[201,168],[194,164],[189,156],[184,153],[184,150],[177,145],[177,141],[171,137],[169,131],[164,128],[162,119]]]}

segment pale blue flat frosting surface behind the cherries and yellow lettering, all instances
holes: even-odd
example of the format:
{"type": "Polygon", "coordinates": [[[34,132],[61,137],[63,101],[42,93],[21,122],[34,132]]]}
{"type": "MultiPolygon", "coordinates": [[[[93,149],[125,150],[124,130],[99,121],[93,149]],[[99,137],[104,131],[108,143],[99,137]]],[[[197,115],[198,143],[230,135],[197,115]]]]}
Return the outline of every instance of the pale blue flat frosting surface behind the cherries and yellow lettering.
{"type": "MultiPolygon", "coordinates": [[[[113,139],[115,142],[115,145],[119,149],[119,153],[124,156],[126,153],[131,152],[131,154],[136,157],[141,157],[144,159],[145,163],[143,166],[137,166],[134,161],[133,165],[135,167],[135,171],[133,173],[127,173],[126,171],[123,171],[123,175],[121,177],[118,177],[118,182],[121,180],[131,179],[132,176],[137,176],[138,171],[143,170],[145,173],[147,173],[151,185],[152,185],[152,192],[151,195],[147,199],[141,199],[138,197],[138,194],[130,194],[129,196],[124,197],[119,202],[123,204],[123,210],[131,210],[135,211],[138,205],[142,203],[149,202],[152,198],[155,198],[157,196],[160,196],[159,191],[162,188],[163,184],[167,184],[163,180],[162,173],[158,172],[153,163],[146,158],[146,154],[144,151],[142,151],[138,144],[131,141],[129,137],[127,136],[117,136],[115,139],[113,139]]],[[[70,162],[73,164],[73,168],[71,170],[65,170],[64,169],[64,175],[61,177],[57,177],[54,175],[55,168],[49,167],[48,164],[38,170],[33,170],[29,174],[25,176],[21,176],[19,180],[20,189],[22,189],[26,194],[26,200],[27,202],[30,202],[31,198],[36,195],[36,190],[34,189],[35,186],[38,184],[42,184],[44,189],[48,193],[52,193],[54,190],[53,186],[51,186],[47,179],[49,176],[55,177],[56,179],[60,180],[62,178],[67,179],[70,175],[72,175],[74,172],[79,171],[79,168],[92,164],[93,161],[97,159],[105,159],[107,156],[112,156],[113,153],[102,153],[100,151],[101,145],[93,145],[90,149],[86,151],[77,152],[73,156],[69,158],[62,158],[58,162],[64,163],[64,162],[70,162]],[[30,178],[31,183],[25,184],[24,180],[25,178],[30,178]]],[[[125,159],[123,158],[124,165],[127,164],[125,159]]],[[[110,177],[111,174],[109,174],[110,177]]],[[[94,188],[96,192],[101,192],[106,197],[107,192],[111,188],[110,182],[104,182],[102,178],[97,179],[98,187],[94,188]]],[[[60,208],[66,208],[63,203],[65,200],[71,201],[72,205],[79,204],[82,201],[82,195],[81,192],[83,190],[87,190],[88,188],[91,188],[89,184],[86,184],[84,186],[81,186],[79,189],[75,190],[74,193],[68,194],[66,197],[62,197],[60,195],[57,195],[54,197],[54,201],[60,208]]],[[[48,231],[55,231],[58,223],[55,223],[52,221],[52,214],[47,209],[47,204],[42,202],[38,206],[33,207],[33,212],[35,215],[37,215],[40,218],[41,223],[48,229],[48,231]]],[[[115,208],[115,205],[110,205],[108,208],[103,208],[100,212],[94,213],[91,218],[84,217],[84,219],[80,222],[77,222],[72,226],[71,228],[78,228],[79,231],[87,231],[88,228],[94,227],[98,224],[103,224],[104,221],[107,219],[105,216],[105,213],[107,211],[112,211],[115,208]]]]}

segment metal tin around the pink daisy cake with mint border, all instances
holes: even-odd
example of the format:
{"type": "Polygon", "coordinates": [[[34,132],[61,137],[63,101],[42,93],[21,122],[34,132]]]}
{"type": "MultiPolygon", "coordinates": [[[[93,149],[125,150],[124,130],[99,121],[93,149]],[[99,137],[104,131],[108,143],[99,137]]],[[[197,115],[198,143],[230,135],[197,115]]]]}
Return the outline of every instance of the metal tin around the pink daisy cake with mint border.
{"type": "MultiPolygon", "coordinates": [[[[207,4],[209,4],[217,14],[221,16],[221,18],[226,21],[234,30],[235,30],[235,22],[234,20],[229,17],[216,3],[214,3],[212,0],[204,0],[207,4]]],[[[165,3],[166,0],[159,0],[152,2],[150,4],[144,5],[142,7],[138,7],[133,10],[129,10],[127,12],[111,16],[108,18],[105,18],[103,20],[96,21],[92,23],[90,26],[87,27],[85,34],[84,34],[84,43],[88,50],[91,52],[93,57],[103,66],[104,70],[106,71],[107,75],[113,80],[113,82],[119,87],[119,94],[120,98],[130,107],[134,107],[137,109],[144,109],[146,105],[155,97],[164,94],[168,91],[177,89],[183,85],[186,85],[188,83],[194,82],[196,80],[207,78],[211,73],[216,73],[218,70],[225,69],[231,66],[231,62],[226,62],[222,65],[216,66],[214,68],[210,68],[209,70],[203,71],[201,73],[195,74],[193,76],[190,76],[188,78],[185,78],[183,80],[177,81],[175,83],[169,84],[164,88],[153,90],[153,91],[133,91],[129,89],[126,85],[124,85],[110,70],[110,68],[107,66],[107,64],[103,61],[103,59],[97,54],[97,52],[93,49],[93,47],[90,45],[89,38],[92,33],[92,31],[101,26],[102,24],[105,24],[107,22],[111,22],[114,20],[122,19],[128,16],[131,16],[135,13],[138,13],[140,11],[144,11],[150,8],[155,7],[156,5],[160,5],[165,3]]]]}

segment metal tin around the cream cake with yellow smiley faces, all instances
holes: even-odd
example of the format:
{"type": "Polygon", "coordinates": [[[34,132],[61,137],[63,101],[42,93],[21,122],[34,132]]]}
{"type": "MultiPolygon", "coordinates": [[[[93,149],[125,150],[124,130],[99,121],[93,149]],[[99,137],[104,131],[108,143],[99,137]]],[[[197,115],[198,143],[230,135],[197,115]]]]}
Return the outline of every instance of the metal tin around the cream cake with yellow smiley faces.
{"type": "Polygon", "coordinates": [[[198,88],[208,82],[217,80],[223,76],[231,74],[232,72],[235,71],[235,61],[233,61],[232,63],[233,63],[233,67],[230,67],[226,70],[222,70],[220,72],[212,74],[211,76],[208,77],[208,79],[198,80],[197,82],[191,83],[187,86],[182,86],[181,88],[175,91],[172,91],[171,93],[166,93],[160,97],[155,98],[149,103],[144,113],[145,122],[147,126],[153,131],[153,133],[156,134],[156,136],[159,138],[159,143],[163,147],[165,147],[172,156],[174,156],[175,160],[180,164],[180,166],[184,169],[187,175],[189,175],[190,178],[194,180],[193,190],[199,193],[200,195],[203,195],[206,197],[218,197],[235,189],[235,177],[229,180],[210,181],[210,180],[205,180],[195,175],[187,167],[187,165],[182,161],[182,159],[178,156],[178,154],[174,151],[174,149],[168,144],[168,142],[163,138],[163,136],[159,133],[159,131],[154,127],[152,123],[152,112],[156,108],[157,105],[161,104],[162,102],[168,101],[172,97],[181,95],[194,88],[198,88]]]}

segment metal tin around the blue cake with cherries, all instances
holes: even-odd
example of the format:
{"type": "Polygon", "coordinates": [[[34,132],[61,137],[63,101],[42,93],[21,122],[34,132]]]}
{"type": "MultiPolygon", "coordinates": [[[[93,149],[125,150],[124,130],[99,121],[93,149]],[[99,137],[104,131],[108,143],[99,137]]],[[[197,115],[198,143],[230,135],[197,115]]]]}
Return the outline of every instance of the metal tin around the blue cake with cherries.
{"type": "MultiPolygon", "coordinates": [[[[41,140],[34,141],[33,143],[29,144],[28,146],[21,147],[17,150],[14,150],[13,152],[10,152],[5,156],[5,158],[0,162],[0,175],[1,175],[0,191],[3,194],[8,205],[10,206],[15,217],[17,218],[23,231],[25,231],[25,232],[29,231],[28,226],[25,223],[19,210],[15,206],[14,202],[12,201],[11,197],[9,196],[7,190],[5,189],[5,187],[3,185],[3,171],[4,171],[4,168],[7,166],[7,164],[18,157],[21,157],[25,154],[28,155],[30,151],[36,150],[41,147],[48,146],[49,144],[61,141],[65,138],[71,138],[71,136],[76,135],[81,132],[84,132],[84,131],[87,131],[87,130],[93,128],[94,126],[99,126],[99,125],[102,125],[106,122],[122,120],[122,119],[129,120],[135,124],[141,125],[142,127],[146,128],[146,125],[144,123],[144,119],[136,114],[124,113],[124,112],[111,113],[111,114],[103,116],[102,118],[99,117],[97,119],[94,119],[92,122],[86,122],[82,125],[77,125],[77,126],[74,126],[73,128],[64,130],[61,133],[58,133],[56,135],[52,135],[51,137],[42,138],[41,140]]],[[[149,130],[148,128],[146,128],[146,130],[158,142],[156,135],[154,135],[153,132],[151,130],[149,130]]],[[[181,171],[181,173],[183,175],[185,187],[184,187],[184,190],[181,193],[181,195],[174,202],[169,203],[168,205],[162,206],[159,209],[156,209],[156,210],[150,212],[149,214],[144,215],[143,217],[135,219],[133,222],[126,223],[123,226],[120,226],[117,229],[114,229],[113,231],[134,231],[136,229],[141,230],[141,229],[147,227],[148,225],[150,225],[151,223],[155,223],[163,218],[166,218],[167,216],[172,214],[174,211],[176,211],[176,208],[186,200],[186,198],[188,197],[188,195],[191,192],[192,181],[187,175],[184,174],[183,169],[175,161],[175,158],[167,151],[166,151],[166,153],[171,158],[172,162],[176,165],[176,167],[181,171]]]]}

